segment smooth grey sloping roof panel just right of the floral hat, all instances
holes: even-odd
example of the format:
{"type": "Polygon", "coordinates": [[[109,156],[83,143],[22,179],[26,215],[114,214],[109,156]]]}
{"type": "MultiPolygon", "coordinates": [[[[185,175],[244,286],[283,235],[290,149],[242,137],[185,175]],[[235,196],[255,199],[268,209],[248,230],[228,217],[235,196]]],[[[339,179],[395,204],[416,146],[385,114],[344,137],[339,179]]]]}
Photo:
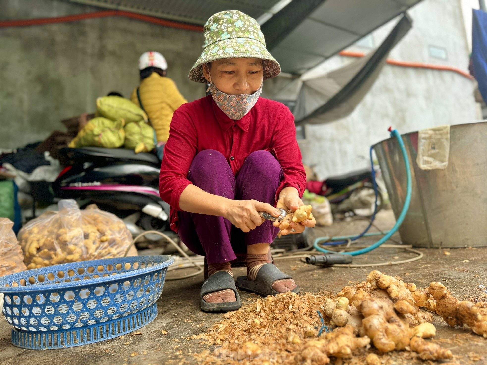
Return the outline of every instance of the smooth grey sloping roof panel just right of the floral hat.
{"type": "MultiPolygon", "coordinates": [[[[281,37],[278,44],[270,44],[270,52],[281,64],[282,71],[304,73],[419,1],[325,0],[285,37],[281,37]]],[[[273,18],[263,28],[270,26],[272,21],[273,18]]],[[[267,37],[265,31],[264,35],[267,37]]]]}

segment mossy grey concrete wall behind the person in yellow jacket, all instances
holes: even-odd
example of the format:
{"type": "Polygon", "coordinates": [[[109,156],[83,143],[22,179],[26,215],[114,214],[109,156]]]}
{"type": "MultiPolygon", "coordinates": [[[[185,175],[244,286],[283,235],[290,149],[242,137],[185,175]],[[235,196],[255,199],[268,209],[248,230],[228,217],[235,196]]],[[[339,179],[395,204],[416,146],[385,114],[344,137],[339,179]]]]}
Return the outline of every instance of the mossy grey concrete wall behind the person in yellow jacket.
{"type": "MultiPolygon", "coordinates": [[[[57,0],[1,0],[0,20],[97,10],[57,0]]],[[[168,76],[188,100],[204,96],[204,86],[187,78],[202,44],[202,32],[118,17],[0,28],[0,148],[64,130],[61,119],[93,112],[96,97],[110,91],[130,97],[146,51],[165,55],[168,76]]]]}

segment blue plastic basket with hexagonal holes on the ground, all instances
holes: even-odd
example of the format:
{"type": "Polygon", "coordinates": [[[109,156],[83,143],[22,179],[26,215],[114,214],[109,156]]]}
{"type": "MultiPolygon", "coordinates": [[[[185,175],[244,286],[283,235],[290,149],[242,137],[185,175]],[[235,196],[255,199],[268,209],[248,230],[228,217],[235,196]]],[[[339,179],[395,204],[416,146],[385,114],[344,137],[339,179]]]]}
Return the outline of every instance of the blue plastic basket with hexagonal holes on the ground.
{"type": "Polygon", "coordinates": [[[0,277],[12,344],[73,347],[139,329],[157,316],[171,256],[73,262],[0,277]]]}

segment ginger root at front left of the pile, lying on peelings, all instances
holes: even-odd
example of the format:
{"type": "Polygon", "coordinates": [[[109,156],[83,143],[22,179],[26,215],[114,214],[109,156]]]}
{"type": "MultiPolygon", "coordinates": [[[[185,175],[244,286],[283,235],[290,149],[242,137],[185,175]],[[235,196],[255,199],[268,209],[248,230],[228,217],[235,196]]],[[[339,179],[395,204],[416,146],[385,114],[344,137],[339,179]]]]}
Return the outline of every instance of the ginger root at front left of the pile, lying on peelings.
{"type": "Polygon", "coordinates": [[[352,351],[359,347],[369,345],[370,339],[367,336],[356,337],[352,326],[336,328],[333,332],[326,333],[318,340],[308,341],[301,352],[301,359],[305,364],[328,364],[328,356],[350,357],[352,351]]]}

